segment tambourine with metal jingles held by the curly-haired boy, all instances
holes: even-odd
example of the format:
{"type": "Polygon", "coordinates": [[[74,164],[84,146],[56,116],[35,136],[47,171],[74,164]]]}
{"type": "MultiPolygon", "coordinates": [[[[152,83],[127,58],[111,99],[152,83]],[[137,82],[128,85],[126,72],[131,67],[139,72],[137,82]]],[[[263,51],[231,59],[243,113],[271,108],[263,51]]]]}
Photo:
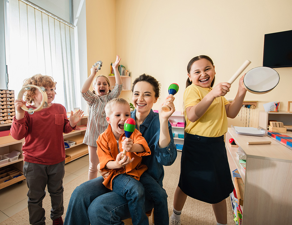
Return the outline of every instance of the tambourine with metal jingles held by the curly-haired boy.
{"type": "Polygon", "coordinates": [[[48,96],[45,92],[45,88],[44,87],[39,87],[39,86],[36,86],[36,85],[32,85],[32,84],[27,84],[25,86],[22,87],[22,89],[20,90],[20,92],[18,93],[18,99],[22,100],[23,99],[23,94],[26,92],[26,91],[29,91],[31,88],[36,88],[38,89],[42,96],[43,96],[43,99],[41,101],[41,104],[39,105],[38,108],[34,109],[34,108],[27,108],[25,105],[21,106],[21,108],[24,110],[24,111],[27,111],[29,114],[33,114],[34,112],[37,112],[37,111],[40,111],[42,110],[42,108],[46,108],[48,106],[48,96]]]}

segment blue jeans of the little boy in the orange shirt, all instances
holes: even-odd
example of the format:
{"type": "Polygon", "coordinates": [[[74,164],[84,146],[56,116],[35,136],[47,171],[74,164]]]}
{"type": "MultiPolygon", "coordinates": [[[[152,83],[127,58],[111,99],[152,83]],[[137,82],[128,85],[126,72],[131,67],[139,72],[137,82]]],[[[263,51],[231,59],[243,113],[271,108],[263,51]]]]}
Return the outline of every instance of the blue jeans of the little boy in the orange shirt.
{"type": "Polygon", "coordinates": [[[144,206],[145,191],[138,180],[119,174],[112,181],[112,191],[127,199],[133,225],[149,225],[144,206]]]}

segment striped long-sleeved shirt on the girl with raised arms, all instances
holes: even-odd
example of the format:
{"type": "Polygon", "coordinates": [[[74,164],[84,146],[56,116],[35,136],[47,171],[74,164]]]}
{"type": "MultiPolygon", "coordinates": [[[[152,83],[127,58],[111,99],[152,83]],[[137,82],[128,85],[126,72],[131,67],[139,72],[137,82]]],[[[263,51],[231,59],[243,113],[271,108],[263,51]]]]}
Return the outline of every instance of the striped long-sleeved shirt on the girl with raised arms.
{"type": "Polygon", "coordinates": [[[123,84],[116,84],[112,91],[104,96],[97,96],[91,91],[81,93],[88,104],[88,122],[83,143],[97,147],[96,140],[108,126],[105,116],[105,105],[109,100],[118,98],[121,94],[123,84]]]}

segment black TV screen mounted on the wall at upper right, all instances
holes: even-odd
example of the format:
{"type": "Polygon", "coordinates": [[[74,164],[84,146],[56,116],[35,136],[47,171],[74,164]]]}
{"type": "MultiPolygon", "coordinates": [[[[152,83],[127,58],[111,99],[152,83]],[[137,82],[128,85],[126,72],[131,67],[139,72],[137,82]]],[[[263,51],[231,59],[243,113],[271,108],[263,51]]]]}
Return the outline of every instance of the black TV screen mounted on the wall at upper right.
{"type": "Polygon", "coordinates": [[[292,67],[292,30],[265,34],[263,66],[292,67]]]}

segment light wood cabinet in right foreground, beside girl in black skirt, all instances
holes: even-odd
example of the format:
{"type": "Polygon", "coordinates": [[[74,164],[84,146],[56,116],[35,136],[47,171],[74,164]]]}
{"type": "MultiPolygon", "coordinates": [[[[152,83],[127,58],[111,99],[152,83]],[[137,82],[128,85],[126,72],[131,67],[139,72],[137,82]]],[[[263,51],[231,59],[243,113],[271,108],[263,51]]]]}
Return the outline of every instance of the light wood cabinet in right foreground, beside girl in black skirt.
{"type": "MultiPolygon", "coordinates": [[[[291,132],[287,132],[292,136],[291,132]]],[[[272,138],[234,134],[228,128],[226,140],[233,138],[238,148],[226,141],[230,172],[237,169],[243,184],[242,225],[290,224],[292,212],[292,150],[272,138]],[[271,141],[265,145],[247,145],[247,141],[271,141]],[[236,152],[246,155],[245,173],[236,152]]],[[[233,177],[234,179],[234,177],[233,177]]],[[[233,180],[234,181],[234,180],[233,180]]]]}

